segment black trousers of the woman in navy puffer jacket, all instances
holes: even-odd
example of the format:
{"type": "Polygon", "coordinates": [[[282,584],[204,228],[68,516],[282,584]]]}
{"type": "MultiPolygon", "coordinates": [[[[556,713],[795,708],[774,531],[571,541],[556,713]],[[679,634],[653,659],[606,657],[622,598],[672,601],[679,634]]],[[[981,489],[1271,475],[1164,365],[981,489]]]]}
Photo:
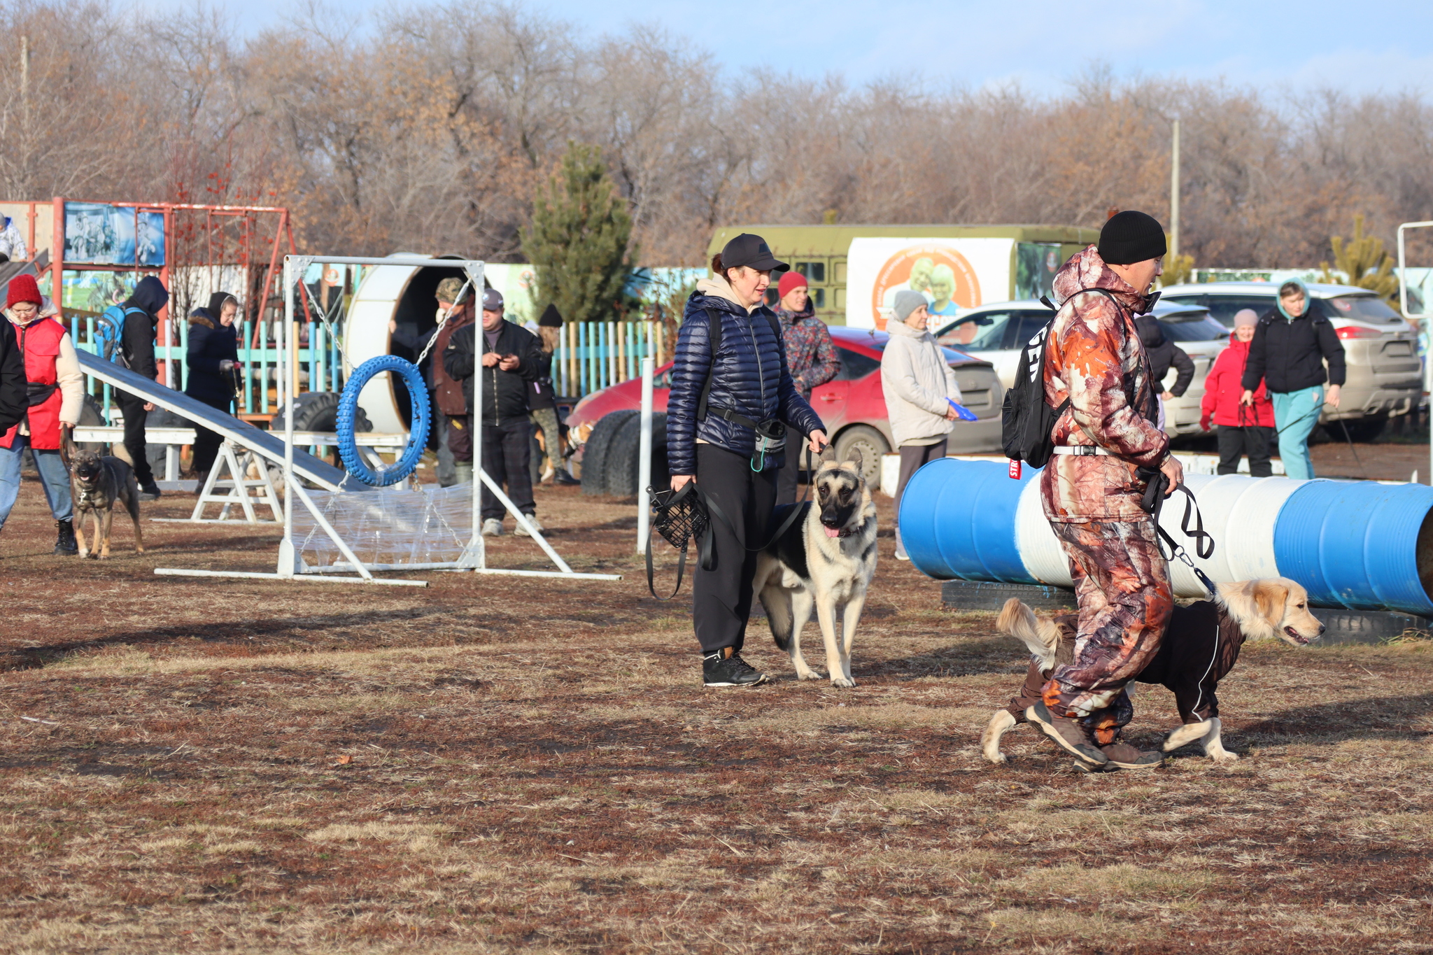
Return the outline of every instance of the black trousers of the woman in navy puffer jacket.
{"type": "Polygon", "coordinates": [[[696,445],[696,483],[702,493],[737,527],[735,533],[712,517],[712,547],[716,566],[692,574],[692,617],[702,653],[722,647],[741,650],[751,617],[751,584],[757,576],[757,551],[771,533],[771,511],[777,504],[777,470],[752,472],[751,458],[718,448],[696,445]]]}

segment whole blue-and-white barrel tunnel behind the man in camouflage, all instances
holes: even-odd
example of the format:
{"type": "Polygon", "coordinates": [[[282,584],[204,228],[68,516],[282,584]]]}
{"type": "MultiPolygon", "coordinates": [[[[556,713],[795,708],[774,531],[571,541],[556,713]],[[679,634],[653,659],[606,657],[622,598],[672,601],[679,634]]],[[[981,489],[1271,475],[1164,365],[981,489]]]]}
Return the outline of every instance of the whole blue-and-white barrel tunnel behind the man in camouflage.
{"type": "MultiPolygon", "coordinates": [[[[1039,468],[1010,480],[1003,462],[944,458],[920,468],[901,497],[901,543],[937,580],[1070,587],[1069,560],[1040,504],[1039,468]]],[[[1433,616],[1433,487],[1187,474],[1214,554],[1189,554],[1215,583],[1288,577],[1314,606],[1433,616]]],[[[1159,524],[1175,540],[1185,498],[1159,524]]],[[[1192,548],[1187,548],[1192,550],[1192,548]]],[[[1169,563],[1176,597],[1204,586],[1169,563]]]]}

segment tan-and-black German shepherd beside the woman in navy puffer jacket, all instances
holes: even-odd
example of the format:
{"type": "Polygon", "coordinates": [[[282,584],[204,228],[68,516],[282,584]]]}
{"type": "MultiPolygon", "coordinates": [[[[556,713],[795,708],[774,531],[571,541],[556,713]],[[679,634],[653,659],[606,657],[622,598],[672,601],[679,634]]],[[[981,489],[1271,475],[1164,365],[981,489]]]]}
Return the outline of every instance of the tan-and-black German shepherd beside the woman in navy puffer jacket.
{"type": "Polygon", "coordinates": [[[791,654],[797,679],[821,679],[801,656],[801,630],[814,609],[825,639],[831,686],[856,686],[851,643],[866,606],[866,590],[876,576],[876,501],[861,477],[860,452],[854,461],[837,462],[827,448],[811,480],[814,500],[777,508],[774,527],[785,521],[791,508],[802,514],[761,551],[752,587],[767,609],[777,649],[791,654]]]}

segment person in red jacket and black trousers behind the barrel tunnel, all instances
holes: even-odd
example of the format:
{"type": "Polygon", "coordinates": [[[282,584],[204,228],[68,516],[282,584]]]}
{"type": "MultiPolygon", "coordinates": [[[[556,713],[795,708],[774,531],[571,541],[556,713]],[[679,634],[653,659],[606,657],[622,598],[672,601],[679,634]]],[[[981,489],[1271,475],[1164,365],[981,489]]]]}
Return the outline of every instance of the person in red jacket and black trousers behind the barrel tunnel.
{"type": "Polygon", "coordinates": [[[1214,368],[1204,379],[1204,402],[1199,427],[1209,430],[1209,421],[1219,425],[1219,474],[1235,474],[1240,470],[1240,457],[1248,454],[1250,474],[1254,477],[1270,477],[1274,474],[1268,462],[1270,450],[1274,447],[1274,405],[1260,382],[1254,392],[1254,405],[1240,404],[1244,385],[1244,362],[1250,357],[1250,341],[1254,339],[1254,326],[1258,315],[1251,308],[1245,308],[1234,316],[1234,334],[1230,335],[1230,346],[1219,352],[1214,361],[1214,368]]]}

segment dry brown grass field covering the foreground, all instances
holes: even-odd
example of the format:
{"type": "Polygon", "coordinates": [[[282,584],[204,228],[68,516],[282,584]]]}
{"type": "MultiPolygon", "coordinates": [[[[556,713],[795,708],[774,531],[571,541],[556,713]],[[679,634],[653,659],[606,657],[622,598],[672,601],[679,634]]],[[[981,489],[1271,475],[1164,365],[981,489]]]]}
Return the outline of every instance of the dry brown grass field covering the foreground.
{"type": "Polygon", "coordinates": [[[1025,659],[888,540],[858,687],[755,620],[775,683],[704,692],[631,504],[539,497],[620,583],[417,590],[152,574],[271,568],[244,525],[52,557],[39,501],[0,537],[3,952],[1433,951],[1433,643],[1247,647],[1235,763],[1083,776],[1022,727],[995,767],[1025,659]]]}

